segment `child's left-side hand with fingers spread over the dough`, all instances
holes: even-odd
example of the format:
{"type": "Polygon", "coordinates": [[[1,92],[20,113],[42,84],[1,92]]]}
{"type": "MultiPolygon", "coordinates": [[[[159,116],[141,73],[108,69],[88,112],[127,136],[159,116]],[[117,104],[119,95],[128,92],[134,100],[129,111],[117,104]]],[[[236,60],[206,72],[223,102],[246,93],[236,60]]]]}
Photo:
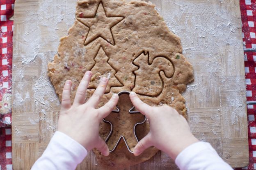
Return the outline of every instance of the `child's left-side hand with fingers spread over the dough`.
{"type": "Polygon", "coordinates": [[[62,93],[62,107],[59,114],[58,131],[63,132],[80,143],[89,152],[97,148],[105,156],[109,155],[107,144],[99,136],[99,125],[113,108],[117,105],[118,95],[114,94],[110,101],[103,107],[95,109],[105,93],[108,79],[101,78],[94,94],[85,103],[87,87],[91,80],[92,73],[85,73],[75,94],[73,105],[71,106],[70,91],[72,82],[66,81],[62,93]]]}

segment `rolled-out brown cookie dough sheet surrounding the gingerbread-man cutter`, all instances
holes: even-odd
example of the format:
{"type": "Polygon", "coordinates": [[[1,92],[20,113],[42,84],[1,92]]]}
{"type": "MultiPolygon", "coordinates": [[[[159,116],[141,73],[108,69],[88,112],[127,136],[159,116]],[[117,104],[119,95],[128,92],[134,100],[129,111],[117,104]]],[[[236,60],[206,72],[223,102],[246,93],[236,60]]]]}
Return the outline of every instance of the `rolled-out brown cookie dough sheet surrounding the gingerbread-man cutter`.
{"type": "MultiPolygon", "coordinates": [[[[73,81],[73,100],[82,76],[91,70],[94,77],[86,100],[101,77],[110,79],[98,107],[112,93],[126,90],[137,92],[149,105],[169,105],[186,117],[181,92],[193,81],[193,70],[181,52],[180,39],[169,31],[150,2],[78,0],[74,25],[69,35],[60,39],[58,53],[48,64],[48,76],[60,100],[66,80],[73,81]]],[[[102,122],[99,133],[104,140],[109,132],[110,125],[102,122]]],[[[148,132],[148,121],[137,126],[138,139],[148,132]]],[[[151,147],[134,157],[122,141],[108,157],[94,152],[100,166],[121,170],[150,159],[158,150],[151,147]]]]}

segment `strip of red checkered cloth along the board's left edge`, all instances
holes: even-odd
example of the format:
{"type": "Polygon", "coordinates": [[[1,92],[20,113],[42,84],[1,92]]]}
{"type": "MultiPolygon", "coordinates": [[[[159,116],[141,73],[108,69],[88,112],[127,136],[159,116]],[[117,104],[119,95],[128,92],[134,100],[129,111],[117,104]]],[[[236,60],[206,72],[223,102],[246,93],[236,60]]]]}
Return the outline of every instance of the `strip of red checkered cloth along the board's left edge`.
{"type": "MultiPolygon", "coordinates": [[[[13,21],[9,18],[14,14],[14,2],[15,0],[0,0],[0,101],[4,94],[11,93],[13,21]]],[[[11,122],[11,112],[1,118],[11,122]]],[[[0,123],[0,170],[12,170],[11,128],[1,128],[3,126],[5,125],[0,123]]]]}

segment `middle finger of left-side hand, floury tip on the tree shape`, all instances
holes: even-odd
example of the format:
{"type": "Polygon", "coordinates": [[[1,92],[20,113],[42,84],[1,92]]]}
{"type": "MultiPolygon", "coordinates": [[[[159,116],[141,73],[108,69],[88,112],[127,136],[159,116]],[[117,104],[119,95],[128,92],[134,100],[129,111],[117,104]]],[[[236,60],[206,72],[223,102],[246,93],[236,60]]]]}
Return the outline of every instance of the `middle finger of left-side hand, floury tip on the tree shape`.
{"type": "Polygon", "coordinates": [[[94,108],[98,106],[98,103],[100,103],[101,97],[103,96],[107,88],[107,83],[108,83],[107,78],[105,77],[101,78],[100,84],[98,85],[94,94],[91,96],[91,98],[87,102],[89,105],[93,106],[94,108]]]}

